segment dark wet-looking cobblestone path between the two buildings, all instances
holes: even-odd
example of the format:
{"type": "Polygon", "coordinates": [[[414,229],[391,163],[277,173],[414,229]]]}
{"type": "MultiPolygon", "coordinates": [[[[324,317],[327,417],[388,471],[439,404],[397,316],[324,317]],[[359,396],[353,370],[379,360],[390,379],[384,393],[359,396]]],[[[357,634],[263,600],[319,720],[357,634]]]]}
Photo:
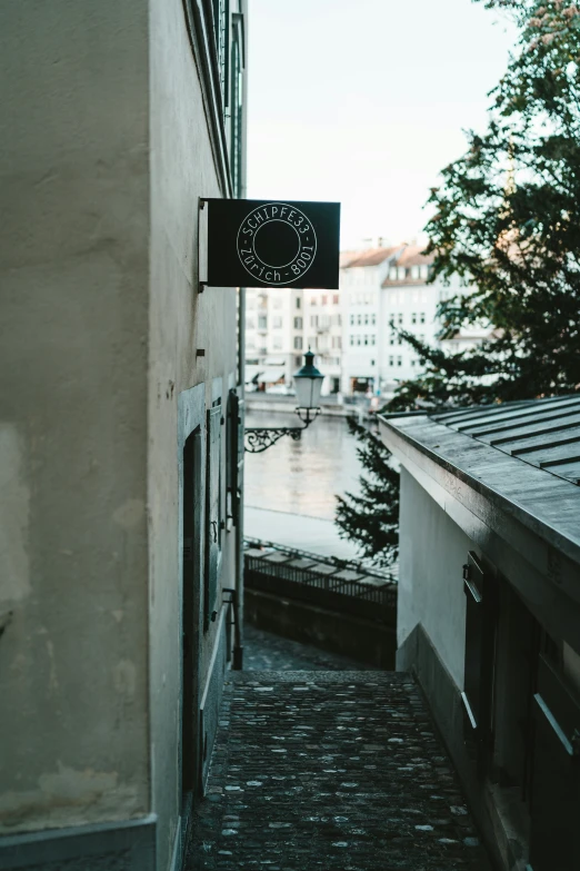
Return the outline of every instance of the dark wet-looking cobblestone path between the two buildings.
{"type": "Polygon", "coordinates": [[[231,672],[188,871],[490,871],[393,672],[231,672]]]}

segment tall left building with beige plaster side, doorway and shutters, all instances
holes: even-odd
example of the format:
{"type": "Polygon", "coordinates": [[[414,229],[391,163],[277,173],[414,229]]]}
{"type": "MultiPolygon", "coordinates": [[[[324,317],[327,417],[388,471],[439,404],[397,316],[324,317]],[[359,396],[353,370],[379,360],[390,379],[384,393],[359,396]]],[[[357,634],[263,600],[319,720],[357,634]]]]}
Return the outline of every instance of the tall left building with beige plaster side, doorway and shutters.
{"type": "MultiPolygon", "coordinates": [[[[0,867],[180,867],[241,586],[247,13],[0,10],[0,867]]],[[[239,613],[237,614],[239,620],[239,613]]]]}

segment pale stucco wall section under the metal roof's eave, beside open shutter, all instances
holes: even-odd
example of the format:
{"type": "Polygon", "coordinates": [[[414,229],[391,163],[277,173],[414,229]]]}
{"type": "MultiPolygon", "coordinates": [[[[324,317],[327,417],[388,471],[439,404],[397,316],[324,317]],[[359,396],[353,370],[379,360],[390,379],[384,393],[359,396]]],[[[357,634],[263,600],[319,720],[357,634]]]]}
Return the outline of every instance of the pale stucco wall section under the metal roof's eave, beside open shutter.
{"type": "Polygon", "coordinates": [[[473,543],[401,468],[400,570],[397,640],[401,647],[422,624],[450,672],[463,689],[466,597],[461,567],[473,543]]]}

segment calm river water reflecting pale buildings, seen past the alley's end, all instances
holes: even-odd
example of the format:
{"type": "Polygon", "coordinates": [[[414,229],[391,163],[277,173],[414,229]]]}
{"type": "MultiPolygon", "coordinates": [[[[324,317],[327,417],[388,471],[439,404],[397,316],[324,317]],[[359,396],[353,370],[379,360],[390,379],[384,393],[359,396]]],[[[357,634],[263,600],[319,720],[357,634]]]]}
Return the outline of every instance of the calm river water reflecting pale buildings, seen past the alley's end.
{"type": "MultiPolygon", "coordinates": [[[[248,414],[247,426],[296,426],[293,414],[248,414]]],[[[284,436],[263,454],[246,454],[246,505],[334,518],[336,496],[359,492],[357,439],[342,417],[319,417],[299,442],[284,436]]]]}

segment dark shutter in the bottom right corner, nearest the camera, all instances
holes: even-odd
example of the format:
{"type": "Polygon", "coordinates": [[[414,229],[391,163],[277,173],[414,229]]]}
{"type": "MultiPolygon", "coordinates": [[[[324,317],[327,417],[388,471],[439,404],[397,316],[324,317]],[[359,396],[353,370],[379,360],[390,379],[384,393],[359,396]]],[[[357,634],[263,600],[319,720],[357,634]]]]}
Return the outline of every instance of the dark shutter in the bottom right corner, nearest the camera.
{"type": "Polygon", "coordinates": [[[580,869],[580,704],[543,656],[534,701],[530,867],[580,869]]]}

